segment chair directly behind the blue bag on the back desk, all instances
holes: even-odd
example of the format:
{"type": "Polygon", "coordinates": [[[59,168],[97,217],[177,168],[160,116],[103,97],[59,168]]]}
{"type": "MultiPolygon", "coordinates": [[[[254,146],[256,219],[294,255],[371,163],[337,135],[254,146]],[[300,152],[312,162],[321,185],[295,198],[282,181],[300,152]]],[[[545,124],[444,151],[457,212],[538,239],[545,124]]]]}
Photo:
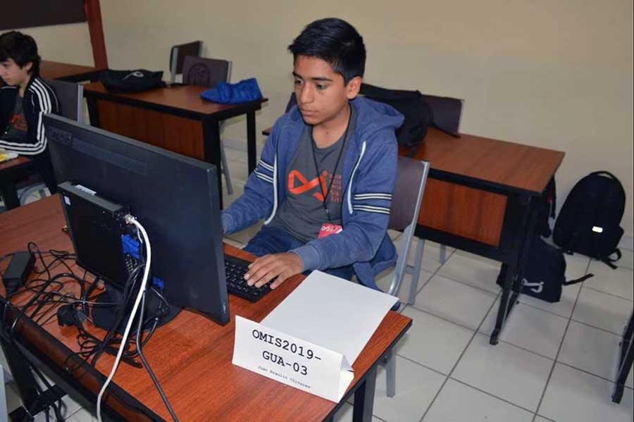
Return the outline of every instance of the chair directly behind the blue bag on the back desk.
{"type": "MultiPolygon", "coordinates": [[[[220,60],[218,58],[201,58],[195,56],[185,57],[182,65],[182,82],[188,85],[202,85],[205,87],[213,87],[218,82],[229,82],[231,80],[231,62],[220,60]]],[[[222,133],[225,122],[220,122],[220,132],[222,133]]],[[[220,161],[227,182],[228,194],[233,194],[233,186],[231,184],[231,176],[229,174],[229,166],[227,165],[227,156],[225,155],[225,147],[220,142],[220,161]]]]}

